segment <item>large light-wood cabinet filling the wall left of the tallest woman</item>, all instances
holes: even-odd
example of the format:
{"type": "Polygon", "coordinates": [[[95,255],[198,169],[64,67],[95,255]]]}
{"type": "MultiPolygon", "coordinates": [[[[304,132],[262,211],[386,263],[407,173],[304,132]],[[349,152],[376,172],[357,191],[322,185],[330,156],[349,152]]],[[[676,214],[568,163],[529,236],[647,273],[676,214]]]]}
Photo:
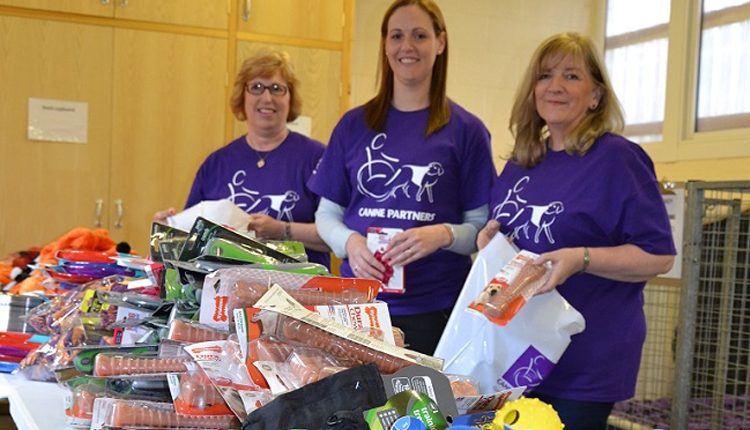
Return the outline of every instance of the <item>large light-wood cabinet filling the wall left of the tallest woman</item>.
{"type": "Polygon", "coordinates": [[[257,49],[290,53],[311,135],[328,140],[352,0],[254,0],[236,31],[235,1],[0,0],[0,256],[97,225],[145,254],[154,212],[182,208],[200,163],[246,131],[228,99],[257,49]],[[86,103],[88,141],[29,140],[30,98],[86,103]]]}

